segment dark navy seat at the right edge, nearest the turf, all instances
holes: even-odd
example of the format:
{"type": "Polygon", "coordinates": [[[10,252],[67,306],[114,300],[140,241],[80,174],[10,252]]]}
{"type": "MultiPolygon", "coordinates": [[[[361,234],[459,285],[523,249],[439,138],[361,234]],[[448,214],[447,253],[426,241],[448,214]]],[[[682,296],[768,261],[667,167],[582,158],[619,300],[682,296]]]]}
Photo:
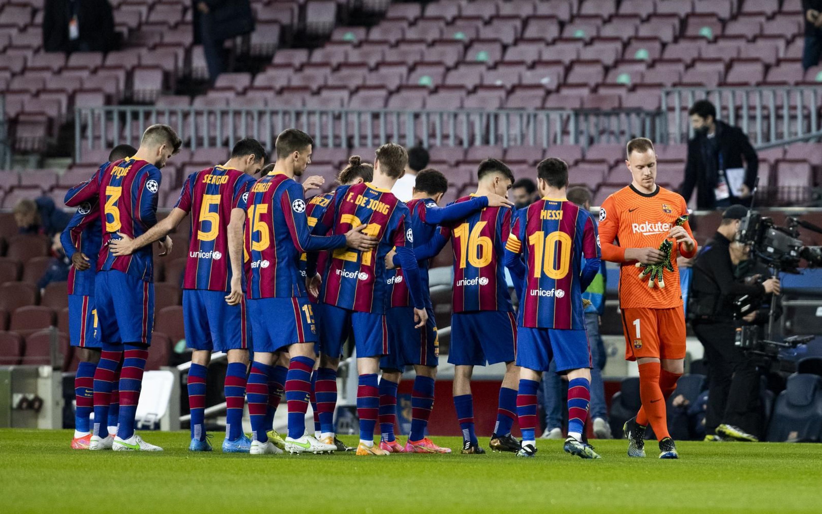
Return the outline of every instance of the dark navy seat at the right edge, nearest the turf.
{"type": "Polygon", "coordinates": [[[779,393],[768,428],[770,442],[819,442],[822,437],[822,377],[793,374],[779,393]]]}

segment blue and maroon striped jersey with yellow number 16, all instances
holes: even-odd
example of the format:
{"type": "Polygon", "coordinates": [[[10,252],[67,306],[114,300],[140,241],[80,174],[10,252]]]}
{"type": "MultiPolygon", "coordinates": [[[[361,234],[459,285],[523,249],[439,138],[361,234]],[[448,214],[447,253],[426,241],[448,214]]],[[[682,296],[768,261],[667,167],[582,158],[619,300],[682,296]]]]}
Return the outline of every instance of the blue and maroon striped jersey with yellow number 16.
{"type": "MultiPolygon", "coordinates": [[[[475,195],[455,203],[470,201],[475,195]]],[[[454,252],[452,303],[455,313],[512,312],[506,283],[505,246],[511,226],[509,207],[486,207],[464,220],[441,225],[440,237],[450,238],[454,252]]]]}

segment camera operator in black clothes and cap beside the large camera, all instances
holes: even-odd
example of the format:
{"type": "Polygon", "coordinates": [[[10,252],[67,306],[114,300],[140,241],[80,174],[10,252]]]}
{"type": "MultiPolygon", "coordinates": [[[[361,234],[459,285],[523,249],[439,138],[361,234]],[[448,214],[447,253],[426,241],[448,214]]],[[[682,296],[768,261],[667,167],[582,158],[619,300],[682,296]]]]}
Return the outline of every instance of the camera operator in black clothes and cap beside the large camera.
{"type": "Polygon", "coordinates": [[[696,257],[690,288],[688,314],[708,360],[709,395],[705,414],[706,441],[732,439],[758,441],[760,433],[760,382],[755,362],[735,345],[737,326],[762,323],[767,315],[754,310],[735,321],[734,301],[750,296],[762,305],[768,294],[779,294],[779,280],[755,283],[737,278],[737,266],[748,258],[750,248],[734,242],[748,210],[731,206],[710,246],[696,257]]]}

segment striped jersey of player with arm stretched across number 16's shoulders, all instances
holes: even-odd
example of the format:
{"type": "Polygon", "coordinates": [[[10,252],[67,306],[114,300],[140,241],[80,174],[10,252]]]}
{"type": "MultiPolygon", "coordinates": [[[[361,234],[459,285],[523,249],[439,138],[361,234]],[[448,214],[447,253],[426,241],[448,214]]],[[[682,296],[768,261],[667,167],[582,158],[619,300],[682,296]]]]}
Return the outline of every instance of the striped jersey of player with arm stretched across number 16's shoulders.
{"type": "MultiPolygon", "coordinates": [[[[470,201],[453,203],[447,207],[436,205],[436,201],[432,198],[416,198],[408,201],[405,205],[409,208],[413,237],[420,243],[419,248],[423,248],[425,242],[435,238],[436,225],[461,220],[473,211],[479,211],[487,207],[488,197],[473,197],[470,201]]],[[[414,248],[414,253],[419,256],[418,248],[414,248]]],[[[422,258],[418,257],[417,263],[419,275],[423,282],[425,305],[432,308],[430,288],[428,286],[428,258],[427,255],[422,258]]],[[[396,260],[395,258],[395,262],[396,260]]],[[[401,267],[386,271],[386,284],[390,287],[391,307],[413,306],[409,283],[406,278],[401,267]]]]}

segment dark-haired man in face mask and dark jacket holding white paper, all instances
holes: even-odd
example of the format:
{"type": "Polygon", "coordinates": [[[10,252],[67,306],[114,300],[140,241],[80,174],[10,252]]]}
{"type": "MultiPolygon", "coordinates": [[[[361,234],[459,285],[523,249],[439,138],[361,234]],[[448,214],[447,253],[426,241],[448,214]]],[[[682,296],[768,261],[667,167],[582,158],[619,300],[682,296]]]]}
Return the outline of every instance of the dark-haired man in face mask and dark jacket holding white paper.
{"type": "Polygon", "coordinates": [[[719,121],[716,107],[708,100],[695,102],[688,115],[694,137],[688,141],[685,180],[680,188],[685,201],[690,201],[696,188],[698,210],[750,206],[759,160],[746,134],[719,121]]]}

